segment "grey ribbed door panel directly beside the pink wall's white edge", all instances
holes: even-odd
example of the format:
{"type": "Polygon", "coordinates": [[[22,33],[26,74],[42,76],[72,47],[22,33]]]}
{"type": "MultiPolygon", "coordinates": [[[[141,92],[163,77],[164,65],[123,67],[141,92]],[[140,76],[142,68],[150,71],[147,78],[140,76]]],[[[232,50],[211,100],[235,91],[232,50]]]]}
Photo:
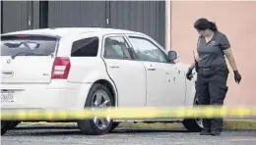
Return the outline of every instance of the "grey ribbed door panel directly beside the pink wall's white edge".
{"type": "Polygon", "coordinates": [[[111,27],[144,32],[164,46],[164,1],[110,1],[109,11],[111,27]]]}

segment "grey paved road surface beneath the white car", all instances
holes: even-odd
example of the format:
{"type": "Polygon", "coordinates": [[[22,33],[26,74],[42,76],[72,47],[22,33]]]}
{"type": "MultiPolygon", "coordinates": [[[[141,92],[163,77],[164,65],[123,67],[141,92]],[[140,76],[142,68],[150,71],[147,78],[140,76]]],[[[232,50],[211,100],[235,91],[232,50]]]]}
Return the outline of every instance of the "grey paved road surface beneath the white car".
{"type": "Polygon", "coordinates": [[[117,128],[101,136],[82,135],[77,128],[19,127],[1,136],[1,145],[256,145],[256,131],[224,131],[200,136],[181,129],[117,128]]]}

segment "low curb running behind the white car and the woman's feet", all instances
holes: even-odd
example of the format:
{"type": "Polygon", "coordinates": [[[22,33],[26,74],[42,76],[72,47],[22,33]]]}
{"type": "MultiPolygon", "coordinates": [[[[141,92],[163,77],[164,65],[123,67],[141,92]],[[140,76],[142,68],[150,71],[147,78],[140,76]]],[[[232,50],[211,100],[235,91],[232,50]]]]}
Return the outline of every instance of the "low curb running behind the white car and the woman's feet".
{"type": "MultiPolygon", "coordinates": [[[[77,126],[76,122],[22,122],[19,126],[77,126]]],[[[118,127],[132,128],[184,128],[182,123],[145,123],[145,122],[121,122],[118,127]]],[[[224,121],[224,129],[227,130],[256,130],[256,120],[250,121],[224,121]]]]}

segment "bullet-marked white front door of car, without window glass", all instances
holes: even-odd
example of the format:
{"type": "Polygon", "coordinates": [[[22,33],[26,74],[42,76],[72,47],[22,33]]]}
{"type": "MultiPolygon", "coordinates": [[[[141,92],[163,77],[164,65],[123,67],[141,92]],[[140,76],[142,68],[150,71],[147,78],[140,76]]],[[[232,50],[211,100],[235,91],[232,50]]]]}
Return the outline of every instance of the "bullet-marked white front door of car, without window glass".
{"type": "MultiPolygon", "coordinates": [[[[165,53],[160,44],[147,35],[126,35],[128,39],[129,36],[146,38],[165,53]]],[[[150,61],[143,61],[143,64],[148,70],[147,106],[183,107],[186,97],[185,77],[180,72],[179,66],[171,63],[153,63],[150,61]],[[154,71],[152,71],[151,66],[153,66],[154,71]]]]}

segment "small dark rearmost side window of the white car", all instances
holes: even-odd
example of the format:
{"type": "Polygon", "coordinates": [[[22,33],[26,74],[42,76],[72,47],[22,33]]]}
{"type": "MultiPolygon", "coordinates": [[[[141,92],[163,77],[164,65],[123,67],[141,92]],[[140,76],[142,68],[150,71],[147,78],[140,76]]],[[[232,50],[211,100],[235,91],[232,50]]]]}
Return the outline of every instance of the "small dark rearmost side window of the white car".
{"type": "Polygon", "coordinates": [[[77,40],[72,45],[72,57],[96,57],[98,50],[98,38],[89,37],[77,40]]]}

